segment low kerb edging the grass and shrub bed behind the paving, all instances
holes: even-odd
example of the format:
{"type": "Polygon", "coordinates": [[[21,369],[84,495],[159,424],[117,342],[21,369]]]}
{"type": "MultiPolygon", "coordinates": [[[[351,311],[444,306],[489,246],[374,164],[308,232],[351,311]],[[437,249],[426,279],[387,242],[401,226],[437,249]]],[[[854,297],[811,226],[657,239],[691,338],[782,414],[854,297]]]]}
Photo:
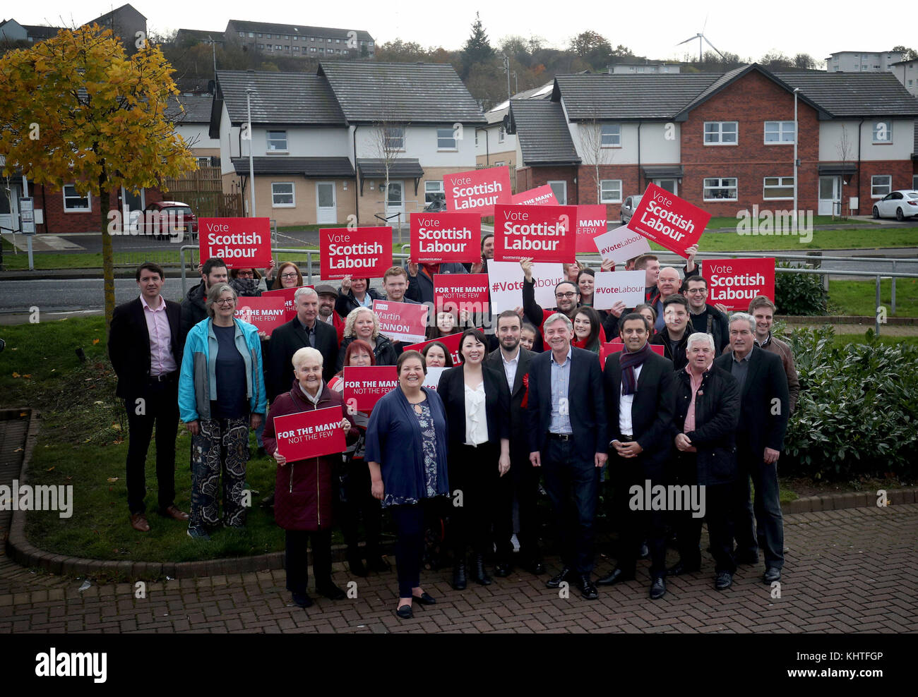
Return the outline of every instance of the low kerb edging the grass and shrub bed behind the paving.
{"type": "MultiPolygon", "coordinates": [[[[10,410],[21,413],[26,409],[10,410]]],[[[3,415],[0,414],[0,418],[3,415]]],[[[28,481],[28,464],[38,439],[39,414],[30,411],[26,447],[23,452],[22,468],[19,481],[28,481]]],[[[887,492],[889,505],[918,503],[918,488],[894,489],[887,492]]],[[[805,496],[781,504],[784,514],[804,514],[816,511],[842,510],[845,508],[863,508],[875,506],[878,496],[872,492],[844,492],[805,496]]],[[[236,557],[229,559],[206,559],[201,561],[151,562],[151,561],[104,561],[101,559],[82,559],[46,552],[30,544],[26,539],[26,512],[16,511],[13,514],[9,536],[6,539],[6,554],[24,567],[38,567],[57,575],[85,576],[105,573],[121,579],[192,579],[203,576],[219,576],[230,573],[247,573],[252,571],[279,570],[284,568],[284,553],[272,552],[254,557],[236,557]]],[[[390,551],[384,543],[384,551],[390,551]]],[[[332,549],[333,559],[344,559],[345,548],[338,545],[332,549]]]]}

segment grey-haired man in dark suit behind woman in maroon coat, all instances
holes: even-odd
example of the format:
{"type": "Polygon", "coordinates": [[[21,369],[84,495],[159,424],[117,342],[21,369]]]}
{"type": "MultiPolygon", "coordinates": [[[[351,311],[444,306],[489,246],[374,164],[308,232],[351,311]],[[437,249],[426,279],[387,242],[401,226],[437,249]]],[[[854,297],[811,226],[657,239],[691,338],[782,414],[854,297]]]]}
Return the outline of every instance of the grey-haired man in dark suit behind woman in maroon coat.
{"type": "Polygon", "coordinates": [[[290,361],[299,349],[309,346],[319,350],[325,382],[335,374],[338,333],[327,322],[319,321],[319,295],[312,288],[298,288],[294,302],[297,304],[297,316],[274,329],[268,342],[264,378],[268,402],[273,402],[278,394],[290,391],[293,384],[293,364],[290,361]]]}

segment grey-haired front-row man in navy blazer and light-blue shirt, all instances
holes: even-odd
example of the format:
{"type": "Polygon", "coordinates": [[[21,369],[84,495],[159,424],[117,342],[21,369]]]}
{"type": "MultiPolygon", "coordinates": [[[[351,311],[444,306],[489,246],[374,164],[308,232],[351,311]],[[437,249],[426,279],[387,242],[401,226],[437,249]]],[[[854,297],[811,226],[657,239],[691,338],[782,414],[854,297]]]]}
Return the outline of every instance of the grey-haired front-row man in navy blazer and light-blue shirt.
{"type": "Polygon", "coordinates": [[[593,570],[593,519],[601,468],[609,458],[602,374],[596,354],[571,346],[574,326],[555,313],[543,333],[550,350],[529,364],[530,462],[543,467],[561,538],[563,568],[545,585],[574,581],[584,598],[599,597],[593,570]]]}

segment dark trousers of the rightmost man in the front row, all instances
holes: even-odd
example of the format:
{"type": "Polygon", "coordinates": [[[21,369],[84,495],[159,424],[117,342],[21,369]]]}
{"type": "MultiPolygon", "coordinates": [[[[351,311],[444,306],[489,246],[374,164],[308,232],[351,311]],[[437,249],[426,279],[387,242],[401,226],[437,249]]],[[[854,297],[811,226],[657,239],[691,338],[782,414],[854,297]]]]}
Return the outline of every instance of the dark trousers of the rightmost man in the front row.
{"type": "Polygon", "coordinates": [[[740,481],[736,487],[734,520],[737,555],[754,555],[762,543],[765,565],[784,566],[784,518],[778,495],[778,466],[767,465],[748,450],[740,449],[740,481]],[[750,501],[749,477],[756,485],[755,503],[750,501]],[[756,535],[757,526],[757,535],[756,535]]]}

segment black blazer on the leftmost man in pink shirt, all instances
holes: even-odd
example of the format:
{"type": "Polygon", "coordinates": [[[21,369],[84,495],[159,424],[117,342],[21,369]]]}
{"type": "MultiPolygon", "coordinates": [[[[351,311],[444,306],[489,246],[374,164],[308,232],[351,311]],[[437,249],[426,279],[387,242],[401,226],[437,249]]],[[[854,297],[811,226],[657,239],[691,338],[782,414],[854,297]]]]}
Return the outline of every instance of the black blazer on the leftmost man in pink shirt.
{"type": "MultiPolygon", "coordinates": [[[[169,318],[170,348],[175,359],[176,370],[182,367],[182,306],[162,298],[169,318]]],[[[142,396],[147,391],[150,377],[150,332],[147,318],[143,315],[140,298],[119,304],[112,314],[108,330],[108,358],[118,375],[115,394],[128,399],[142,396]]]]}

